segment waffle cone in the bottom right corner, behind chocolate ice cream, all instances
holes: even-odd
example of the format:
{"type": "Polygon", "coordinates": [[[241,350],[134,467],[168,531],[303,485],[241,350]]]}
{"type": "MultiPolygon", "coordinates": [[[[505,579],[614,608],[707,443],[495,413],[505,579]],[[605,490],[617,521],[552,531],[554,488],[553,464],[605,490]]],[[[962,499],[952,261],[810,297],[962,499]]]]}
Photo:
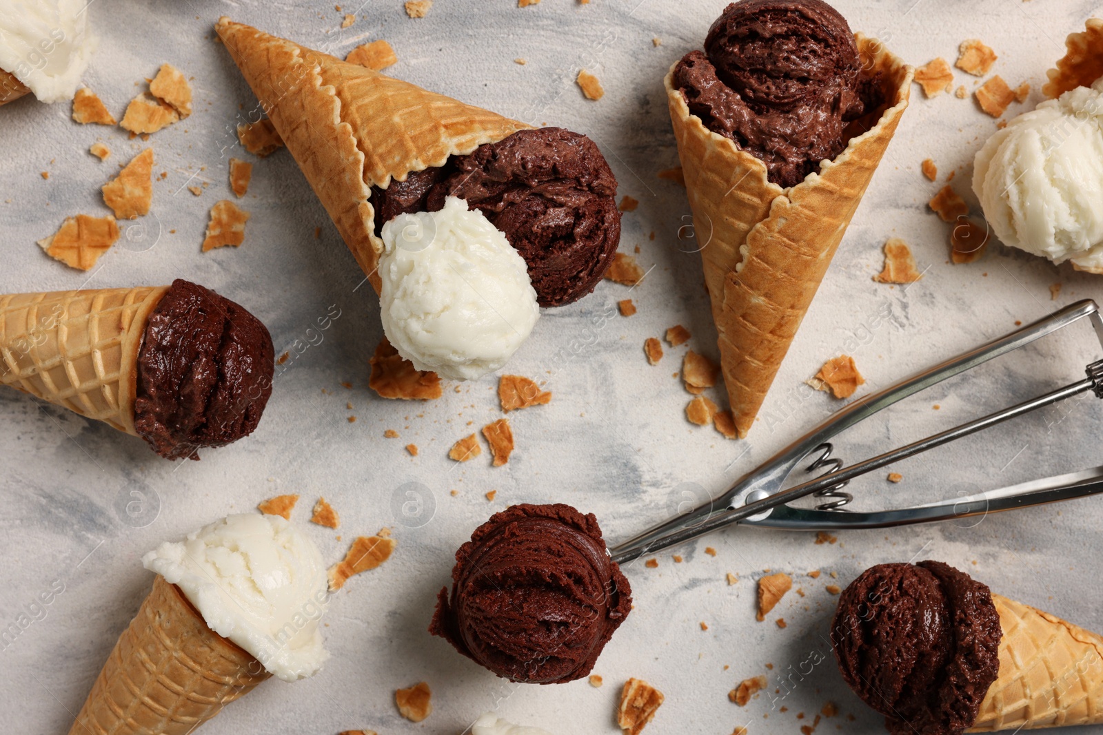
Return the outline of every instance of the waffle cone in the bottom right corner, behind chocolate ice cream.
{"type": "Polygon", "coordinates": [[[1103,723],[1103,637],[992,596],[1004,637],[999,675],[970,732],[1103,723]]]}

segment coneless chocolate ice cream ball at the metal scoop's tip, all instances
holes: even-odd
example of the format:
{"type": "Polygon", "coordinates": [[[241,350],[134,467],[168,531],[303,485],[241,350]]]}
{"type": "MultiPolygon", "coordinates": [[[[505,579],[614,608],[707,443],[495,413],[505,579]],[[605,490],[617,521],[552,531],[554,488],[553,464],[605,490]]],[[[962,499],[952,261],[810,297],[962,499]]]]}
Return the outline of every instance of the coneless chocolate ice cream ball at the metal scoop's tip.
{"type": "Polygon", "coordinates": [[[452,582],[429,633],[518,682],[587,675],[632,607],[597,519],[566,505],[495,514],[456,552],[452,582]]]}

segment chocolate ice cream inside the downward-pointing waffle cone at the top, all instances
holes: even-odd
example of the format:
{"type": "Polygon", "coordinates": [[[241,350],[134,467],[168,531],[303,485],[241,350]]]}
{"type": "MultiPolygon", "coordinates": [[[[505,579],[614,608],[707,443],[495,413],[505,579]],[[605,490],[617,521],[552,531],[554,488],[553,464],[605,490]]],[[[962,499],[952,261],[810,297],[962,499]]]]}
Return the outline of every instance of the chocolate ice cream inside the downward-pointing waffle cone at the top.
{"type": "Polygon", "coordinates": [[[761,159],[780,186],[838,155],[847,123],[879,101],[846,19],[822,0],[732,2],[704,53],[677,64],[673,85],[693,115],[761,159]]]}

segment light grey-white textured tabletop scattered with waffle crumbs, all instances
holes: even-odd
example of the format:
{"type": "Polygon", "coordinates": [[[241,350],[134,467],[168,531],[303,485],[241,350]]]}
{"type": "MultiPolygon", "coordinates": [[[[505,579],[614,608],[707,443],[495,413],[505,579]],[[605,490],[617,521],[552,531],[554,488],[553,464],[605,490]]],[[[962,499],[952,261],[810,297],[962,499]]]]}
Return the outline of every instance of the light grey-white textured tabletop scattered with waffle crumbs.
{"type": "MultiPolygon", "coordinates": [[[[345,11],[357,10],[354,6],[345,11]]],[[[159,284],[183,277],[250,309],[271,329],[277,354],[306,342],[307,329],[331,305],[341,316],[281,374],[259,430],[231,447],[205,452],[197,463],[162,461],[141,441],[106,425],[0,391],[0,626],[14,623],[55,581],[64,585],[44,618],[0,647],[6,732],[66,731],[150,587],[142,553],[281,493],[302,496],[295,520],[328,561],[340,559],[354,536],[385,526],[394,528],[398,548],[389,562],[353,579],[334,598],[324,628],[333,658],[318,677],[264,684],[205,726],[207,735],[456,733],[492,709],[555,735],[615,733],[614,705],[629,677],[646,679],[666,695],[646,731],[656,735],[728,735],[736,725],[749,725],[751,733],[797,733],[828,700],[840,714],[817,732],[840,726],[847,733],[881,733],[880,716],[846,689],[829,655],[825,636],[837,598],[825,587],[845,585],[866,566],[886,561],[943,560],[1005,595],[1103,629],[1096,584],[1103,573],[1096,531],[1103,505],[1084,499],[975,526],[840,533],[837,543],[821,545],[810,533],[729,530],[677,550],[681,564],[670,553],[660,555],[657,569],[645,569],[641,560],[625,570],[635,609],[595,669],[604,678],[601,689],[586,681],[510,684],[426,633],[454,550],[507,505],[569,502],[597,514],[609,539],[625,539],[675,512],[683,490],[721,491],[835,410],[834,399],[801,390],[825,359],[853,355],[867,379],[861,390],[872,391],[1007,332],[1016,321],[1103,296],[1097,277],[1000,247],[977,263],[950,264],[947,226],[927,201],[956,170],[955,188],[976,207],[968,186],[972,159],[996,129],[995,120],[972,98],[928,100],[914,87],[912,106],[750,440],[727,441],[711,428],[687,423],[683,410],[690,397],[672,374],[687,347],[714,358],[717,350],[699,259],[685,252],[692,244],[677,239],[688,223],[685,193],[656,177],[677,165],[662,77],[678,56],[699,46],[722,6],[544,0],[518,9],[513,0],[437,0],[426,18],[414,20],[399,0],[374,0],[357,11],[355,24],[340,30],[342,13],[332,2],[92,4],[101,43],[86,82],[109,109],[121,117],[144,87],[143,77],[171,62],[194,77],[195,112],[142,143],[127,140],[118,128],[75,125],[67,104],[23,99],[0,110],[0,292],[159,284]],[[382,400],[367,388],[367,360],[382,336],[375,296],[366,287],[354,291],[363,275],[287,151],[256,161],[243,201],[253,214],[245,245],[200,252],[211,205],[229,195],[226,155],[235,151],[225,149],[234,143],[236,116],[255,101],[212,40],[214,21],[224,13],[341,56],[358,43],[387,39],[399,58],[390,74],[507,116],[589,134],[609,159],[620,194],[640,199],[639,209],[624,216],[621,249],[640,246],[638,257],[649,269],[643,283],[629,292],[603,282],[577,304],[545,311],[508,365],[510,372],[548,380],[555,394],[549,406],[510,414],[517,448],[508,465],[491,467],[485,453],[463,465],[446,456],[453,441],[501,415],[495,378],[449,382],[443,398],[429,403],[382,400]],[[655,37],[662,45],[653,45],[655,37]],[[517,57],[527,63],[515,64],[517,57]],[[604,85],[600,101],[585,99],[576,86],[580,67],[604,85]],[[87,152],[96,140],[111,149],[104,163],[87,152]],[[154,150],[154,171],[168,172],[154,185],[150,215],[128,223],[124,238],[92,273],[46,258],[35,240],[54,233],[67,215],[106,214],[99,186],[118,171],[117,163],[147,144],[154,150]],[[925,158],[939,165],[938,184],[919,171],[925,158]],[[42,171],[50,172],[47,181],[42,171]],[[204,183],[199,197],[185,188],[204,183]],[[909,241],[924,270],[907,292],[870,278],[881,268],[880,247],[890,236],[909,241]],[[1049,287],[1056,282],[1063,289],[1051,301],[1049,287]],[[636,302],[639,314],[589,326],[624,298],[636,302]],[[869,328],[878,313],[889,318],[869,328]],[[663,361],[649,366],[643,341],[675,324],[693,333],[692,342],[666,345],[663,361]],[[564,348],[571,359],[556,357],[564,348]],[[352,415],[355,423],[349,422],[352,415]],[[385,439],[386,429],[400,439],[385,439]],[[418,445],[417,457],[407,454],[407,443],[418,445]],[[420,484],[431,505],[417,521],[427,522],[417,528],[395,512],[408,483],[420,484]],[[492,489],[497,496],[488,501],[484,494],[492,489]],[[336,532],[307,522],[320,495],[341,514],[336,532]],[[147,498],[146,511],[135,519],[124,508],[140,496],[147,498]],[[715,558],[706,547],[716,549],[715,558]],[[804,596],[790,593],[768,621],[757,623],[756,580],[767,569],[793,574],[804,596]],[[805,576],[817,569],[820,579],[805,576]],[[726,583],[728,572],[739,577],[737,584],[726,583]],[[774,625],[778,617],[786,628],[774,625]],[[824,660],[802,667],[810,655],[824,660]],[[728,691],[757,674],[769,677],[771,692],[781,689],[782,679],[789,682],[781,689],[784,698],[763,694],[746,707],[730,703],[728,691]],[[399,718],[394,690],[422,680],[432,688],[435,711],[414,725],[399,718]],[[782,706],[788,711],[780,712],[782,706]],[[847,720],[849,714],[856,720],[847,720]]],[[[982,39],[999,54],[994,73],[1013,86],[1029,80],[1034,87],[1029,100],[1013,105],[1009,115],[1039,101],[1045,72],[1063,53],[1065,34],[1082,28],[1093,8],[1070,0],[839,0],[837,6],[854,29],[879,35],[914,64],[935,56],[952,63],[961,41],[982,39]]],[[[972,91],[974,77],[955,76],[955,85],[972,91]]],[[[1078,325],[909,400],[853,431],[838,452],[857,460],[1071,381],[1099,355],[1092,343],[1088,327],[1078,325]],[[941,410],[932,410],[934,404],[941,410]]],[[[714,398],[719,400],[719,392],[714,398]]],[[[899,485],[880,473],[855,483],[856,507],[953,497],[1097,464],[1101,408],[1085,398],[901,463],[893,468],[903,475],[899,485]]]]}

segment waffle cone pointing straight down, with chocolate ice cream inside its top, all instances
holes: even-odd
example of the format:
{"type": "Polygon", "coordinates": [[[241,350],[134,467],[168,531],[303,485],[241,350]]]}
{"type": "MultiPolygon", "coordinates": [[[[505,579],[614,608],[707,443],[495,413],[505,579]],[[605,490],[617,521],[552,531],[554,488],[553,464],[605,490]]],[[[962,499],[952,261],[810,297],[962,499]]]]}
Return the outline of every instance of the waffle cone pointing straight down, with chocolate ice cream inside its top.
{"type": "Polygon", "coordinates": [[[740,437],[754,422],[908,107],[912,68],[876,40],[860,33],[855,39],[865,68],[879,79],[888,101],[857,121],[849,145],[834,161],[789,188],[770,183],[762,161],[692,115],[672,85],[673,66],[666,75],[671,121],[740,437]]]}

